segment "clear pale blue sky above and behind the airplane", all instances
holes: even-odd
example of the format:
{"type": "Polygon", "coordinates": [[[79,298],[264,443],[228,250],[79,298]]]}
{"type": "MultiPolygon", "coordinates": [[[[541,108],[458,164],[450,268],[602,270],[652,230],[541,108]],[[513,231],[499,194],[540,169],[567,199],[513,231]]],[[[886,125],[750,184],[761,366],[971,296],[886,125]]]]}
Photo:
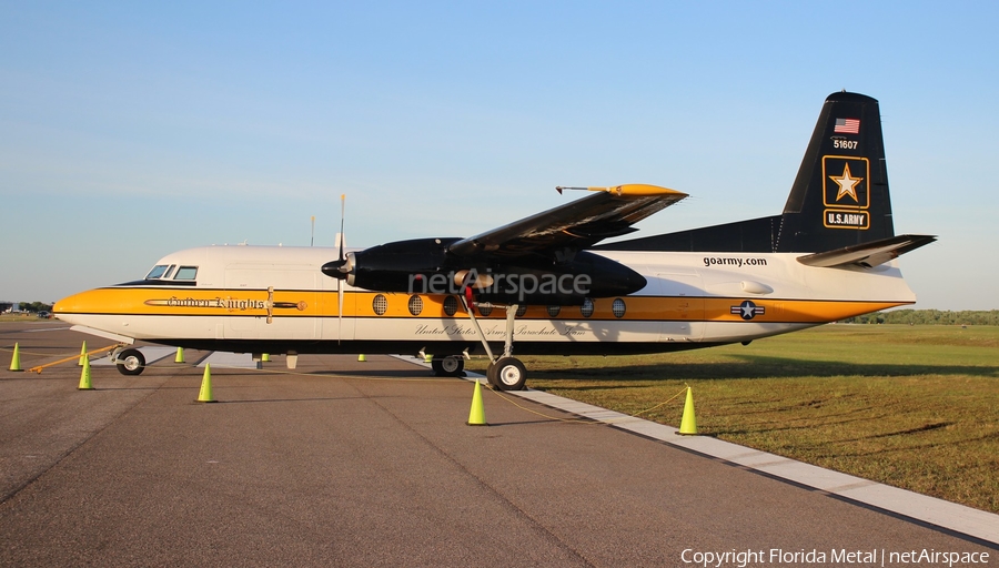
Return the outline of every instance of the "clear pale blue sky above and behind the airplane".
{"type": "Polygon", "coordinates": [[[467,236],[555,185],[780,212],[823,100],[878,99],[916,307],[999,308],[991,2],[0,1],[0,300],[239,243],[467,236]]]}

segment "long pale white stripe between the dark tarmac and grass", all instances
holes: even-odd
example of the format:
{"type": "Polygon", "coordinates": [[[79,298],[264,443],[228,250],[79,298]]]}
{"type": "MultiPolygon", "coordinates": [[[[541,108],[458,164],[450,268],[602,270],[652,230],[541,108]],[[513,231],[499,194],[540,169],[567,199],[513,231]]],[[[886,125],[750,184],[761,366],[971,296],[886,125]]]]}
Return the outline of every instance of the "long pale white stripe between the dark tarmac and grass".
{"type": "MultiPolygon", "coordinates": [[[[428,364],[417,357],[400,355],[396,358],[422,367],[430,367],[428,364]]],[[[485,377],[477,373],[467,373],[465,378],[467,381],[477,381],[485,377]]],[[[868,505],[920,523],[999,545],[999,515],[804,464],[784,456],[747,448],[717,438],[682,436],[678,434],[678,429],[673,426],[636,418],[627,414],[571,400],[541,390],[506,390],[504,394],[526,398],[576,416],[602,422],[615,428],[656,439],[670,446],[723,459],[730,464],[760,471],[770,477],[819,489],[850,501],[868,505]]]]}

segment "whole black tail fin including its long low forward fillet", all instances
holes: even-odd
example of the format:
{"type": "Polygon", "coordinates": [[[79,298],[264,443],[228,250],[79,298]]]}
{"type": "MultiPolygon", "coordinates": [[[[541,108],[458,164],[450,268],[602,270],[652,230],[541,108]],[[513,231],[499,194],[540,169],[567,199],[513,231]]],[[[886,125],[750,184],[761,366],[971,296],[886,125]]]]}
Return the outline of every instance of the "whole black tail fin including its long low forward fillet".
{"type": "Polygon", "coordinates": [[[826,252],[895,236],[878,101],[826,98],[781,215],[594,248],[689,252],[826,252]]]}

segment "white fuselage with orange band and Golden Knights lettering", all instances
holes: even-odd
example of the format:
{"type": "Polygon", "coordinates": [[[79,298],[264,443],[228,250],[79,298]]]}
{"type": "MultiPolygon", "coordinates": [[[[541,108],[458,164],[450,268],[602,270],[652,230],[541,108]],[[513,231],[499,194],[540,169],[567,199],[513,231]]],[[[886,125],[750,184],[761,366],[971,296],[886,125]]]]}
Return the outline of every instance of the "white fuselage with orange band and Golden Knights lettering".
{"type": "MultiPolygon", "coordinates": [[[[124,343],[272,354],[480,348],[480,335],[455,295],[351,287],[320,272],[336,254],[324,247],[190,248],[157,263],[169,271],[164,277],[82,292],[59,301],[54,312],[82,331],[124,343]]],[[[829,270],[801,264],[794,253],[599,254],[637,271],[647,285],[582,306],[527,306],[515,321],[517,353],[707,347],[916,300],[897,261],[829,270]]],[[[491,307],[478,305],[475,316],[485,337],[502,343],[506,316],[491,307]]]]}

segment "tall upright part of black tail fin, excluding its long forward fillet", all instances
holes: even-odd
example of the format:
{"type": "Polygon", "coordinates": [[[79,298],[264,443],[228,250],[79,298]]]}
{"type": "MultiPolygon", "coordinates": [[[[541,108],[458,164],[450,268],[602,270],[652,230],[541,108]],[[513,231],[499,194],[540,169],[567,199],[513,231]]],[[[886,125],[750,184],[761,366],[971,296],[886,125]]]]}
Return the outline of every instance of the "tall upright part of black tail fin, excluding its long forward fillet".
{"type": "Polygon", "coordinates": [[[784,206],[775,252],[821,252],[895,236],[878,101],[826,98],[784,206]]]}

